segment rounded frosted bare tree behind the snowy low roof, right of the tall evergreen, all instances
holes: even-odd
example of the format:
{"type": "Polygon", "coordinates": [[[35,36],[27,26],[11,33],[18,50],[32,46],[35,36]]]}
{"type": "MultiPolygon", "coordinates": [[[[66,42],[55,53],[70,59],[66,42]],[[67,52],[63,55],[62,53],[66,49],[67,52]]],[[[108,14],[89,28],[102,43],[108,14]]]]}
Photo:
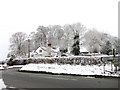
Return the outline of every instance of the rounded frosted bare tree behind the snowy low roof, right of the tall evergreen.
{"type": "Polygon", "coordinates": [[[103,35],[98,32],[96,29],[89,30],[85,36],[84,45],[87,47],[89,52],[100,52],[101,46],[104,44],[102,40],[104,40],[103,35]]]}

